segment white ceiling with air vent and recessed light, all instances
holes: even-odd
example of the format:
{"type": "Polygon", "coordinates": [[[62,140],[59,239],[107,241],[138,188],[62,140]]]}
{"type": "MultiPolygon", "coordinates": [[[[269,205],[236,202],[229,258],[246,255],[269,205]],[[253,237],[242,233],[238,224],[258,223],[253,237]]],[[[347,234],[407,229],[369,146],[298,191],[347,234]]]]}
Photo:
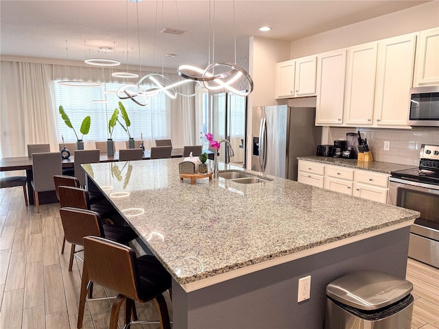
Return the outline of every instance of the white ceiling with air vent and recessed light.
{"type": "Polygon", "coordinates": [[[214,53],[214,60],[235,62],[235,34],[237,58],[247,57],[250,36],[298,40],[425,2],[1,0],[0,54],[62,60],[103,57],[120,60],[123,64],[128,60],[128,64],[137,66],[161,67],[163,64],[176,68],[181,63],[208,63],[211,32],[211,49],[215,46],[211,56],[214,53]],[[263,25],[272,27],[272,30],[259,32],[259,27],[263,25]],[[163,27],[187,32],[181,36],[159,33],[163,27]],[[99,53],[99,47],[103,46],[114,47],[115,51],[107,55],[99,53]],[[177,56],[167,58],[166,53],[176,53],[177,56]]]}

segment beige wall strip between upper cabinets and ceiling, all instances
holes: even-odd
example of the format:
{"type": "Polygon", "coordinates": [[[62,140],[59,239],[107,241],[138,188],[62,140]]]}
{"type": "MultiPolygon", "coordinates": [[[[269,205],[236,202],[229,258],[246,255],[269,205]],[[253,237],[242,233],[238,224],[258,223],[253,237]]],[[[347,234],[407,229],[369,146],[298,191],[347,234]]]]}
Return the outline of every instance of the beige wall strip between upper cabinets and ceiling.
{"type": "Polygon", "coordinates": [[[438,25],[439,1],[431,1],[293,41],[290,59],[418,32],[438,25]]]}

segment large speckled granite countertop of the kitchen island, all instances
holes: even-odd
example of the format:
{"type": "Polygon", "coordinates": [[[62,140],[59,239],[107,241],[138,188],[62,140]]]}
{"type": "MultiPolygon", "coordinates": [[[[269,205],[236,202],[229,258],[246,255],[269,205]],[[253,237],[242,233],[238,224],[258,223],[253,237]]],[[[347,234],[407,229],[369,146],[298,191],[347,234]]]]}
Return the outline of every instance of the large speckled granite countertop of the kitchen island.
{"type": "MultiPolygon", "coordinates": [[[[419,215],[270,175],[258,184],[203,178],[191,185],[180,180],[180,161],[84,169],[182,287],[380,228],[409,226],[419,215]]],[[[219,169],[248,171],[222,163],[219,169]]]]}

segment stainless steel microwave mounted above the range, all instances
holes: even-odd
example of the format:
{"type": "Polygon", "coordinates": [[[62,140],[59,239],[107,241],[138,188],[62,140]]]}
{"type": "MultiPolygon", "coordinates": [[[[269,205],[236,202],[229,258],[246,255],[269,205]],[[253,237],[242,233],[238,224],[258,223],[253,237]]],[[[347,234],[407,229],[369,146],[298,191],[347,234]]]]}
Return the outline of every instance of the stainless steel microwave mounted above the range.
{"type": "Polygon", "coordinates": [[[410,88],[408,124],[439,127],[439,86],[410,88]]]}

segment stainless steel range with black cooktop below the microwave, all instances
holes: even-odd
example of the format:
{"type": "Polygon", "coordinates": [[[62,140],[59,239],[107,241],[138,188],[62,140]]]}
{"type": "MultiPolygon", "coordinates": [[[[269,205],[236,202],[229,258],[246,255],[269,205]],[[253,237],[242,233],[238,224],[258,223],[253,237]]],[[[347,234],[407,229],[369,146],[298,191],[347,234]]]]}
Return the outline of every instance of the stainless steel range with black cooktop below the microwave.
{"type": "Polygon", "coordinates": [[[419,167],[392,171],[388,203],[420,212],[409,257],[439,267],[439,145],[421,145],[419,158],[419,167]]]}

